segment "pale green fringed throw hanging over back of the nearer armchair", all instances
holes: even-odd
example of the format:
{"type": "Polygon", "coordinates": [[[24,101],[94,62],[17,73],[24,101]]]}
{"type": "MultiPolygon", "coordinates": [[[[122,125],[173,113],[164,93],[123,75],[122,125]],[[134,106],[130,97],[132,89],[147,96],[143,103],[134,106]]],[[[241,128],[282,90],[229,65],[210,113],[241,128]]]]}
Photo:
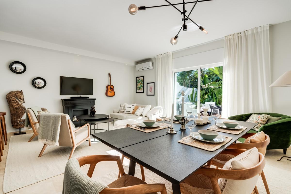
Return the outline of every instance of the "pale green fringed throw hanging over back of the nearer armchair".
{"type": "Polygon", "coordinates": [[[60,135],[61,116],[63,113],[41,113],[38,142],[47,145],[58,145],[60,135]]]}

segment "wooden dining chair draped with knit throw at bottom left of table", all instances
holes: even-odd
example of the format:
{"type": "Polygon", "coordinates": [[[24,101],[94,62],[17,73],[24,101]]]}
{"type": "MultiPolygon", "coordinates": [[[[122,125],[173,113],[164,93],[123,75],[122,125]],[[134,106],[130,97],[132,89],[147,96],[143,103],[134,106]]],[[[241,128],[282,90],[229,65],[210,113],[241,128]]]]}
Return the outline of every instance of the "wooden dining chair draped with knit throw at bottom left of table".
{"type": "Polygon", "coordinates": [[[98,192],[100,194],[153,194],[156,192],[167,194],[165,184],[147,184],[137,177],[125,174],[119,156],[91,155],[70,159],[65,168],[63,194],[98,192]],[[91,179],[96,164],[101,161],[116,161],[121,177],[109,185],[91,179]],[[87,175],[80,168],[86,164],[90,165],[87,175]]]}

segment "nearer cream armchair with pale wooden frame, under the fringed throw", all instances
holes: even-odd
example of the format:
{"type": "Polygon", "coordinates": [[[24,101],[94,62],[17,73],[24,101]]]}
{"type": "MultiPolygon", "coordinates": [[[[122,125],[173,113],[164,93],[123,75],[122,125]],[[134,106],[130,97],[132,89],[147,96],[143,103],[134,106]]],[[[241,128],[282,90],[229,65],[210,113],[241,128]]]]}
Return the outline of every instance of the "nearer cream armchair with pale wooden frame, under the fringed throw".
{"type": "MultiPolygon", "coordinates": [[[[38,115],[38,120],[40,119],[40,115],[38,115]]],[[[72,157],[76,147],[78,147],[84,141],[89,140],[89,146],[91,146],[91,138],[90,138],[90,124],[85,124],[78,129],[73,130],[71,120],[69,115],[63,114],[61,116],[61,127],[58,144],[60,146],[70,146],[72,147],[71,154],[69,159],[72,157]],[[88,127],[87,129],[85,127],[88,127]],[[77,133],[78,132],[78,133],[77,133]]],[[[42,153],[45,151],[47,147],[46,144],[43,145],[40,154],[38,157],[42,156],[42,153]]]]}

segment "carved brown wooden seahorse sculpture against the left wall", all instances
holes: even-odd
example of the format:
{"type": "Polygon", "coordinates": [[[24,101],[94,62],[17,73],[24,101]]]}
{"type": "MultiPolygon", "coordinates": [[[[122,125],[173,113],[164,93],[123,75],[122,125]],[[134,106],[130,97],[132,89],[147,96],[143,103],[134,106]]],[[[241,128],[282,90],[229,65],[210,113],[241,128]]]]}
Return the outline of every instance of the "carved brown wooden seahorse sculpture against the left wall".
{"type": "Polygon", "coordinates": [[[22,90],[9,92],[6,99],[10,109],[12,127],[15,129],[24,128],[25,119],[22,119],[22,116],[25,114],[26,108],[22,105],[25,103],[22,90]]]}

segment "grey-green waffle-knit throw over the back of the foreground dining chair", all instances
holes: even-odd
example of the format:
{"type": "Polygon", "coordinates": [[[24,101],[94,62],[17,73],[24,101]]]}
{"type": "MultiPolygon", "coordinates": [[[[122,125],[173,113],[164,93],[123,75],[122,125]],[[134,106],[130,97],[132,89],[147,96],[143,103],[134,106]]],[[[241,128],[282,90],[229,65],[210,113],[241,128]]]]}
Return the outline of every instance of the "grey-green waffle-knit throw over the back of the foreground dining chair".
{"type": "Polygon", "coordinates": [[[63,182],[63,194],[98,194],[108,186],[97,182],[80,169],[77,159],[70,159],[67,162],[63,182]]]}

